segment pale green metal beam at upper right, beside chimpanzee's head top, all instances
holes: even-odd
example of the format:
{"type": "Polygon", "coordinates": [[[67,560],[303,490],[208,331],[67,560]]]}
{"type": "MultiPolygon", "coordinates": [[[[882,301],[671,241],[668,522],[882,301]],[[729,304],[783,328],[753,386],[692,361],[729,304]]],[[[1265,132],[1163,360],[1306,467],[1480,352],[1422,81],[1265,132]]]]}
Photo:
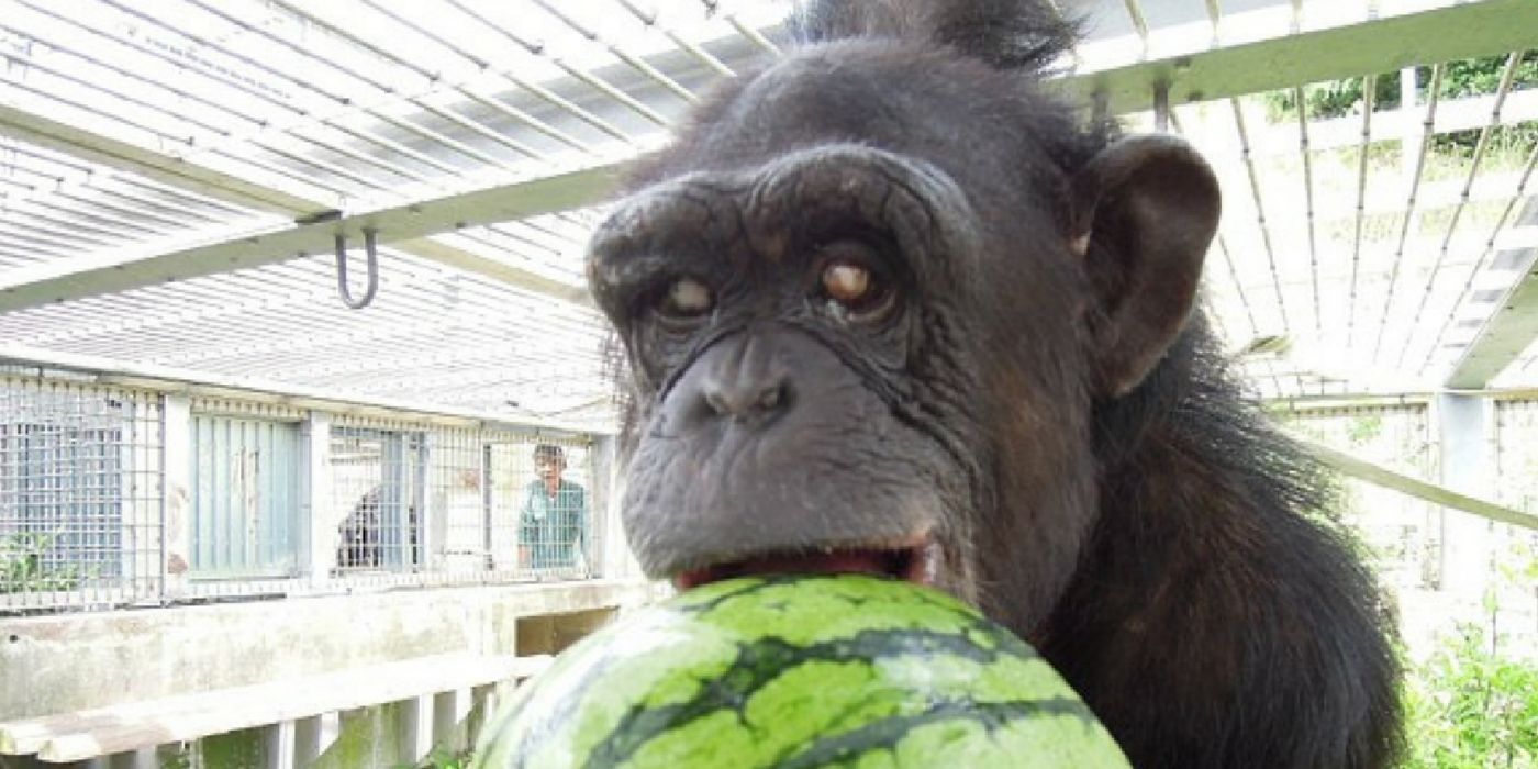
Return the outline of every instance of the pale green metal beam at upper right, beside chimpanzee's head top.
{"type": "Polygon", "coordinates": [[[1155,86],[1163,85],[1170,103],[1181,105],[1535,46],[1538,3],[1481,0],[1072,74],[1055,85],[1126,114],[1152,109],[1155,86]]]}

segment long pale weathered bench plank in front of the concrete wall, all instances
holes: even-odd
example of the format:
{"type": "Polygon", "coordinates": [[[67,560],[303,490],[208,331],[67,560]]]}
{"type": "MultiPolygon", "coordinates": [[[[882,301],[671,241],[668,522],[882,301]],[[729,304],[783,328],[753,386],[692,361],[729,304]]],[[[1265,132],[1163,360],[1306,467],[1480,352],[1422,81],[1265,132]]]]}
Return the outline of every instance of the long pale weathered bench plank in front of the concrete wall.
{"type": "Polygon", "coordinates": [[[449,654],[5,721],[0,723],[0,755],[35,754],[42,761],[82,761],[338,711],[521,681],[549,663],[549,655],[449,654]]]}

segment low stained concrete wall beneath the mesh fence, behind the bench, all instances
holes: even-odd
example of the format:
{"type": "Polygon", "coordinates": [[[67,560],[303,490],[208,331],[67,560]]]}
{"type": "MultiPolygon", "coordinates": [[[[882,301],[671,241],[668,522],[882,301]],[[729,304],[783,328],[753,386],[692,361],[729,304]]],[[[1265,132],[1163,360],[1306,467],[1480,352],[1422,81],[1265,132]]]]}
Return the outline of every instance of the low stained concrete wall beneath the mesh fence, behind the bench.
{"type": "Polygon", "coordinates": [[[520,618],[592,618],[655,595],[644,581],[594,580],[0,620],[0,720],[434,654],[515,654],[520,618]]]}

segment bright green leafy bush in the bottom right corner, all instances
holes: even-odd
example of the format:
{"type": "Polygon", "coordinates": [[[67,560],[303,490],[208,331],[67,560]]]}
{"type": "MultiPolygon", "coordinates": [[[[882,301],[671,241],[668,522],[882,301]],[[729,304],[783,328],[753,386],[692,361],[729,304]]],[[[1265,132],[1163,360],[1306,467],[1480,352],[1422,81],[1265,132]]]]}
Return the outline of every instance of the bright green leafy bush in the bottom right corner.
{"type": "Polygon", "coordinates": [[[1406,769],[1538,767],[1538,663],[1461,626],[1406,684],[1406,769]]]}

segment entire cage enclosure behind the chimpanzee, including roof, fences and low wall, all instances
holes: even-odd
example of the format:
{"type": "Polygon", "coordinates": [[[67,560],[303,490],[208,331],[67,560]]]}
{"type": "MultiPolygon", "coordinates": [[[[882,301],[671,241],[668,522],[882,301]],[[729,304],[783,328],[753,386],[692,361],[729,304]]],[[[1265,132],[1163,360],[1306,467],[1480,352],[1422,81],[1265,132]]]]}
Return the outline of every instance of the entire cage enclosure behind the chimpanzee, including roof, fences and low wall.
{"type": "MultiPolygon", "coordinates": [[[[1212,166],[1204,318],[1407,658],[1538,660],[1538,2],[1049,2],[1041,88],[1212,166]]],[[[0,0],[0,752],[415,764],[666,592],[586,243],[792,8],[0,0]]]]}

